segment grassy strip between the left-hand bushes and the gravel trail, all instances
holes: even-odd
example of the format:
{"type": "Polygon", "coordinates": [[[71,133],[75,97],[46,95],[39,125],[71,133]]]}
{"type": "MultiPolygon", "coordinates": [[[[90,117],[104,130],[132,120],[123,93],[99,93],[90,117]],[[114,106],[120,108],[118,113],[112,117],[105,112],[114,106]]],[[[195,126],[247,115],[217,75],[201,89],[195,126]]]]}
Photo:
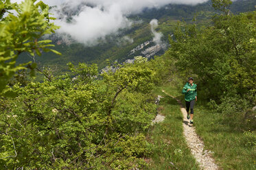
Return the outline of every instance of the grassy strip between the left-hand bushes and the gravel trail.
{"type": "Polygon", "coordinates": [[[162,93],[162,88],[165,89],[156,88],[155,93],[164,97],[159,112],[165,120],[152,126],[148,133],[152,151],[148,158],[149,169],[199,169],[183,136],[180,106],[175,99],[162,93]]]}

